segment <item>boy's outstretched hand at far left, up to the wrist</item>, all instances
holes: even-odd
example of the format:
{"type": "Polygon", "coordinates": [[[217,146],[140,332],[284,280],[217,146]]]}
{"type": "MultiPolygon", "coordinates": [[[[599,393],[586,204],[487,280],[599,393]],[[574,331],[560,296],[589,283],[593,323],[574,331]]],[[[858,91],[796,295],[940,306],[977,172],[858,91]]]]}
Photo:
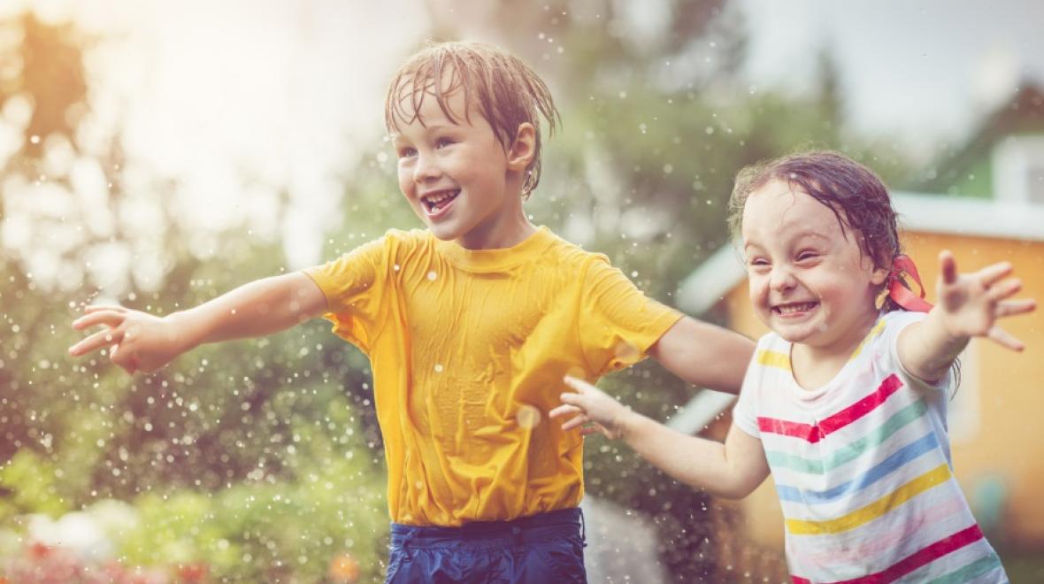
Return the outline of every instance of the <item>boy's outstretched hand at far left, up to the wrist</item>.
{"type": "Polygon", "coordinates": [[[111,347],[110,359],[127,373],[151,373],[192,346],[176,317],[160,318],[122,306],[88,306],[85,314],[73,321],[73,328],[105,328],[70,347],[69,354],[78,357],[111,347]]]}

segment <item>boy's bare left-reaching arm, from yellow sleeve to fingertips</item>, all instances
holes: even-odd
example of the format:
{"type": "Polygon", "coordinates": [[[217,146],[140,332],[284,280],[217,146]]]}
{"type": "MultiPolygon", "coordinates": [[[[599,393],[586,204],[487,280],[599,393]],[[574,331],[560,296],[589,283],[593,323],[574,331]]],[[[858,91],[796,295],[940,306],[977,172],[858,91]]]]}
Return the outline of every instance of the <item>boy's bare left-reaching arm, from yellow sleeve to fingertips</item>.
{"type": "Polygon", "coordinates": [[[70,347],[69,354],[111,347],[110,358],[127,373],[152,372],[204,343],[264,336],[317,317],[326,308],[323,290],[301,272],[257,280],[162,318],[122,306],[89,306],[73,327],[105,328],[70,347]]]}

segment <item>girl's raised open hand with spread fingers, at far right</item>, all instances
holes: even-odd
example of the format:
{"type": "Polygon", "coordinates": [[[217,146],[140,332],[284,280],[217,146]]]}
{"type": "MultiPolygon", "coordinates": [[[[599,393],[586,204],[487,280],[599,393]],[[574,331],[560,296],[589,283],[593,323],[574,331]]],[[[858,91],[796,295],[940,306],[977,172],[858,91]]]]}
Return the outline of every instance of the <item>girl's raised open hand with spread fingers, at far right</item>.
{"type": "Polygon", "coordinates": [[[1012,264],[1003,261],[973,274],[957,274],[957,262],[949,250],[939,255],[939,308],[947,334],[955,338],[988,336],[1013,351],[1025,345],[996,323],[998,319],[1031,312],[1033,300],[1009,300],[1022,289],[1022,281],[1007,278],[1012,264]]]}

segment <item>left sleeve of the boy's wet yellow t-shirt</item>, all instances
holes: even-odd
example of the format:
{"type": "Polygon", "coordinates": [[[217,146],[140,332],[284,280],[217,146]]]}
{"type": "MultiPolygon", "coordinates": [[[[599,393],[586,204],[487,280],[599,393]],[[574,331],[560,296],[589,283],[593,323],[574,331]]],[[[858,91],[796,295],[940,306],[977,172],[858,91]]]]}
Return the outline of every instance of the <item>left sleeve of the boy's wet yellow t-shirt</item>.
{"type": "Polygon", "coordinates": [[[367,352],[379,310],[375,289],[386,263],[385,237],[364,243],[329,261],[305,270],[327,299],[323,318],[338,336],[367,352]]]}

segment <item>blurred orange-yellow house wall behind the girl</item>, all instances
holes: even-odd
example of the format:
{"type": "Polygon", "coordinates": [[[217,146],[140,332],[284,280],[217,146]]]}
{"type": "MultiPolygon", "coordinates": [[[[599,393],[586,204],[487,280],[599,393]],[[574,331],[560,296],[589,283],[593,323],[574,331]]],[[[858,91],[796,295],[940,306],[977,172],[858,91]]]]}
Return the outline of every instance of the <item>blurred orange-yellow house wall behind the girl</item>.
{"type": "MultiPolygon", "coordinates": [[[[1044,226],[1041,227],[1044,231],[1044,226]]],[[[906,253],[914,258],[934,301],[939,252],[952,250],[960,272],[996,261],[1015,265],[1023,281],[1020,297],[1044,302],[1044,242],[909,232],[906,253]]],[[[751,309],[744,280],[726,298],[731,326],[752,337],[767,329],[751,309]]],[[[1007,493],[1001,528],[1010,543],[1044,545],[1044,308],[1007,319],[1005,330],[1026,344],[1015,353],[996,344],[973,341],[975,367],[966,368],[962,387],[978,414],[978,430],[952,444],[954,472],[971,497],[983,476],[1002,478],[1007,493]],[[971,383],[976,383],[975,391],[971,383]]],[[[958,392],[960,390],[958,389],[958,392]]],[[[761,545],[783,546],[782,511],[772,480],[741,504],[749,536],[761,545]]]]}

